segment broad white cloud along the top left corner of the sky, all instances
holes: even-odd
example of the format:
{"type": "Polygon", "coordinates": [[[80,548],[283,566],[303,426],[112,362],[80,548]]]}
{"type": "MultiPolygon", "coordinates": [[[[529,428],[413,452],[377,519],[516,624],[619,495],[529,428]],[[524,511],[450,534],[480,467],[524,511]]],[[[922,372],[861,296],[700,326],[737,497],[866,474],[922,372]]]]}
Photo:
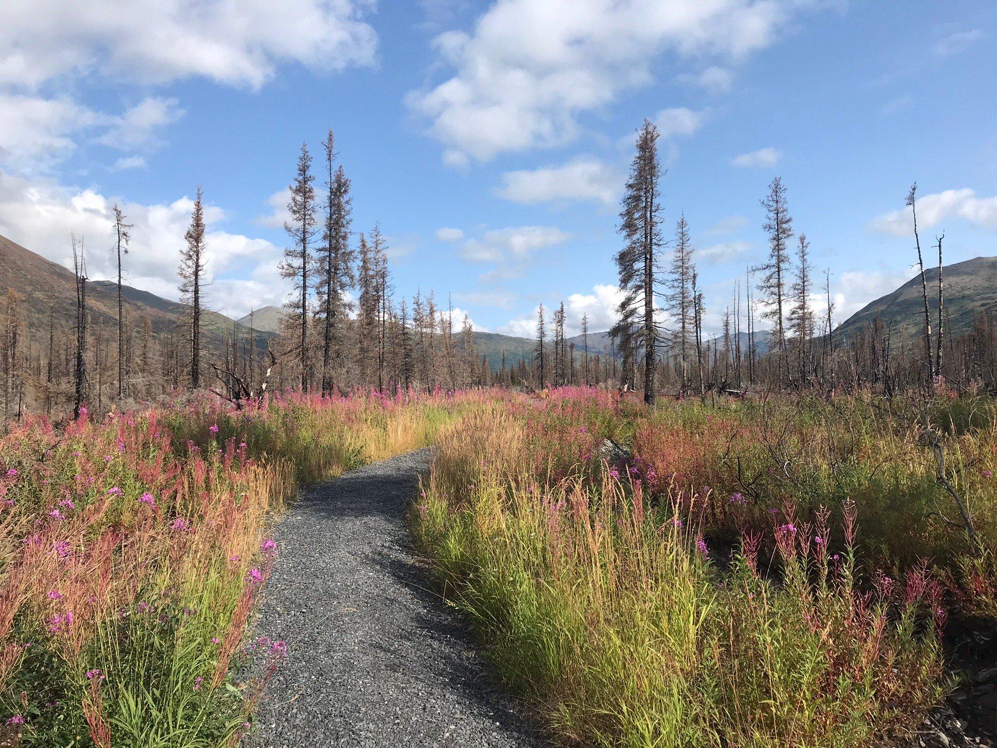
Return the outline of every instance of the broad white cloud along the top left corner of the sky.
{"type": "Polygon", "coordinates": [[[35,88],[98,71],[167,83],[198,76],[259,88],[280,63],[317,70],[371,65],[373,0],[5,0],[0,85],[35,88]]]}

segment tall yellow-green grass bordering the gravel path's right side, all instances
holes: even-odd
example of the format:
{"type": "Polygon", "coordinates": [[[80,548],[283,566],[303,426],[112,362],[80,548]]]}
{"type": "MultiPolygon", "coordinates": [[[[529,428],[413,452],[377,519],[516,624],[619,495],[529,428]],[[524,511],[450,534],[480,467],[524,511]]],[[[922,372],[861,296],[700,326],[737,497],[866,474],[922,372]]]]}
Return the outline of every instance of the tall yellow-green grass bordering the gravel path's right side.
{"type": "Polygon", "coordinates": [[[771,555],[752,534],[728,559],[678,479],[652,501],[593,454],[614,407],[467,415],[413,510],[445,594],[551,734],[816,748],[916,724],[942,688],[940,584],[921,570],[860,583],[850,505],[835,539],[828,511],[805,523],[788,504],[768,520],[771,555]]]}

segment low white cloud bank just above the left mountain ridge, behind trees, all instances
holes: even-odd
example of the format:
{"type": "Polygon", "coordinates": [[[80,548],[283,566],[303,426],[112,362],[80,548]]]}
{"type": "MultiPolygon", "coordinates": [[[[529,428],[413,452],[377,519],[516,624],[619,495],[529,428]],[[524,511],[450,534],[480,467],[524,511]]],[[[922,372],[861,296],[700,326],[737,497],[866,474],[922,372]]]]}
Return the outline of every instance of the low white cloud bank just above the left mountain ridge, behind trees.
{"type": "MultiPolygon", "coordinates": [[[[95,279],[115,276],[113,246],[114,199],[90,188],[65,187],[51,180],[29,180],[0,172],[0,233],[28,249],[72,267],[70,235],[85,241],[87,264],[95,279]]],[[[176,267],[183,233],[190,220],[193,200],[179,197],[168,203],[142,204],[119,201],[133,223],[131,251],[126,263],[130,284],[166,298],[178,297],[176,267]]],[[[228,276],[248,276],[265,291],[261,298],[283,296],[286,284],[260,268],[276,267],[280,250],[265,239],[222,230],[224,211],[206,205],[207,271],[216,276],[208,290],[212,307],[226,313],[245,313],[256,296],[240,296],[235,289],[247,281],[228,276]]],[[[269,272],[269,271],[267,271],[269,272]]]]}

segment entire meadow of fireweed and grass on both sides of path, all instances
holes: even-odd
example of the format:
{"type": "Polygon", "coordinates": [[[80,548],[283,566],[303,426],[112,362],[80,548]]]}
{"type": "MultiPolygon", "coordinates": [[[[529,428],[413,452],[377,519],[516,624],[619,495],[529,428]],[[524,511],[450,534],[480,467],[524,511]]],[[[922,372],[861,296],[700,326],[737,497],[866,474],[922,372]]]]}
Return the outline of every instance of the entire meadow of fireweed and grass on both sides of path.
{"type": "Polygon", "coordinates": [[[997,614],[997,413],[936,396],[276,394],[0,439],[0,744],[234,746],[285,645],[253,613],[301,483],[434,444],[411,526],[552,739],[866,746],[997,614]],[[626,450],[607,455],[605,440],[626,450]]]}

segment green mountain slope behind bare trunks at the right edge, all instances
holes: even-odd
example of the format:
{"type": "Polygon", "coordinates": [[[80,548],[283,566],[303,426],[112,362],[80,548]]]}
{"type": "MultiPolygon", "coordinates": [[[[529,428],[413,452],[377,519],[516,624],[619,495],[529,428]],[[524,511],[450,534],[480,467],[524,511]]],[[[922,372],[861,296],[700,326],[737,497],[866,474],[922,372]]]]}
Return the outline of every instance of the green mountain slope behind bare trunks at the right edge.
{"type": "MultiPolygon", "coordinates": [[[[973,318],[987,310],[997,314],[997,257],[974,257],[964,262],[945,265],[945,326],[954,335],[967,332],[973,318]]],[[[931,329],[938,325],[938,268],[924,271],[928,283],[928,304],[931,308],[931,329]]],[[[879,317],[892,326],[894,337],[914,338],[924,329],[924,301],[921,298],[921,276],[916,274],[895,291],[877,298],[842,322],[835,334],[850,335],[879,317]]]]}

